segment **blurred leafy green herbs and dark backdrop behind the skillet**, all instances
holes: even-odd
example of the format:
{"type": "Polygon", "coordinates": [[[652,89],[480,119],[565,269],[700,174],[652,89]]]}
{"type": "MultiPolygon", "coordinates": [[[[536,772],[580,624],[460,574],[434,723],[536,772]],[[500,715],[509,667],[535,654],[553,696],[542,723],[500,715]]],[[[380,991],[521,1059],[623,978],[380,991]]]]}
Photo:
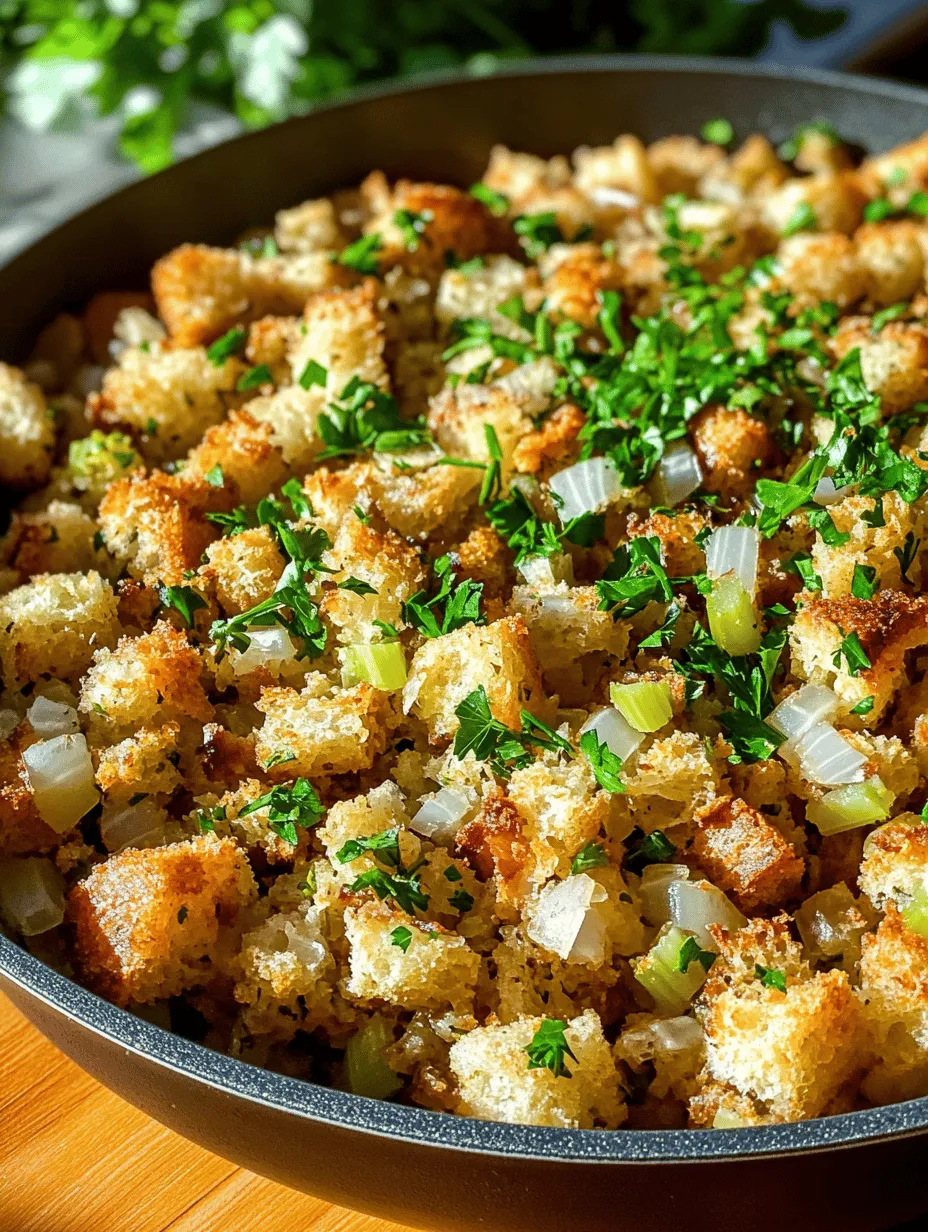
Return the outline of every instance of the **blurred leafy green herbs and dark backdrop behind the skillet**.
{"type": "Polygon", "coordinates": [[[0,0],[0,81],[33,129],[118,117],[123,154],[155,171],[195,102],[261,127],[361,81],[568,52],[754,55],[776,20],[811,39],[844,16],[804,0],[0,0]]]}

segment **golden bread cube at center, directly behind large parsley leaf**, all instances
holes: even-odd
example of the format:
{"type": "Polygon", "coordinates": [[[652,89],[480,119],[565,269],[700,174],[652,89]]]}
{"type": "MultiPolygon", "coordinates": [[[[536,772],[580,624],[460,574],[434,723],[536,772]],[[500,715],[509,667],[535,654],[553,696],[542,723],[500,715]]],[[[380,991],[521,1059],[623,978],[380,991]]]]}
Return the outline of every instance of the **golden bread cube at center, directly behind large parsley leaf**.
{"type": "Polygon", "coordinates": [[[430,638],[413,655],[403,690],[403,708],[420,718],[434,740],[455,734],[455,708],[479,685],[490,710],[507,727],[520,727],[523,707],[545,707],[539,664],[521,616],[430,638]]]}

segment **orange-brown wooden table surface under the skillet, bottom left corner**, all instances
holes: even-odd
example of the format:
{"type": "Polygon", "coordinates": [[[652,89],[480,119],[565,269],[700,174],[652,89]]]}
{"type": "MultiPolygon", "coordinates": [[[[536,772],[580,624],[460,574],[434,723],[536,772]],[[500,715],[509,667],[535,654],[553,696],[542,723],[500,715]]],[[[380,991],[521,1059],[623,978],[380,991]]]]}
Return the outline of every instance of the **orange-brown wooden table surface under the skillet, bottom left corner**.
{"type": "Polygon", "coordinates": [[[408,1232],[237,1168],[89,1078],[0,995],[0,1232],[408,1232]]]}

